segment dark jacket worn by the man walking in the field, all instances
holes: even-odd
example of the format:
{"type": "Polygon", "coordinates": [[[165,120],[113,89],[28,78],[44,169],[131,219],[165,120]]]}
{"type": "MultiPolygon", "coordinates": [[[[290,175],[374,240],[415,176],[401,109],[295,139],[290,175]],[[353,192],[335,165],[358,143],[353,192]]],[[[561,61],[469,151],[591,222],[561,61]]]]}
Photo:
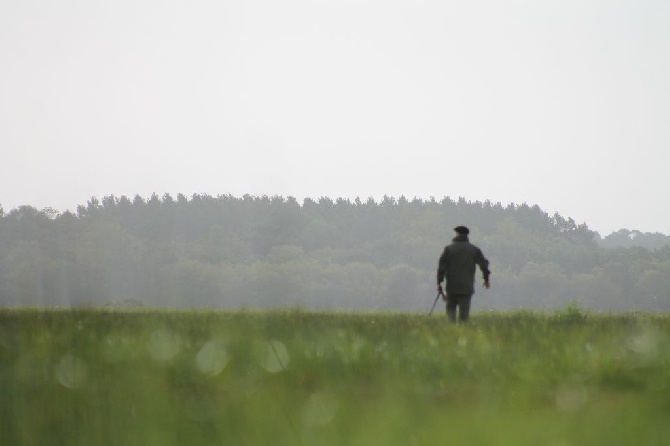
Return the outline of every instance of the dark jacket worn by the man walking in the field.
{"type": "Polygon", "coordinates": [[[482,250],[470,243],[467,235],[454,237],[444,248],[437,267],[437,284],[447,280],[447,294],[474,294],[476,265],[482,270],[484,280],[489,280],[489,261],[482,250]]]}

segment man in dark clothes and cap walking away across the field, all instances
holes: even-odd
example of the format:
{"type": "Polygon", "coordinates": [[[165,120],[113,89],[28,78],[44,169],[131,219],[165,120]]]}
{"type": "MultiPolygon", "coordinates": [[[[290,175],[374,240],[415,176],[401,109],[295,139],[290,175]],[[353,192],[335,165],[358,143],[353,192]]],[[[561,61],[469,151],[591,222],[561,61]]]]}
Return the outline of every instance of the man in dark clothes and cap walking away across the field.
{"type": "Polygon", "coordinates": [[[470,243],[470,230],[465,226],[454,228],[456,237],[444,248],[437,267],[437,292],[447,301],[447,317],[456,322],[467,322],[470,316],[470,301],[475,292],[476,265],[484,276],[484,288],[489,289],[489,261],[482,250],[470,243]],[[442,280],[447,282],[447,294],[442,291],[442,280]]]}

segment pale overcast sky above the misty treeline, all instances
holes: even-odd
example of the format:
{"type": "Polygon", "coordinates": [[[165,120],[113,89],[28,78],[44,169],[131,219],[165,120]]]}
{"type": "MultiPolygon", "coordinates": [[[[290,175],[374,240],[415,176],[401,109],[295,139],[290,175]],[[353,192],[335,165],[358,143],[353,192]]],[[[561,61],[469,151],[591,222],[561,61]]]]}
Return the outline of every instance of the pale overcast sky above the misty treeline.
{"type": "Polygon", "coordinates": [[[667,0],[2,0],[0,204],[538,204],[670,234],[667,0]]]}

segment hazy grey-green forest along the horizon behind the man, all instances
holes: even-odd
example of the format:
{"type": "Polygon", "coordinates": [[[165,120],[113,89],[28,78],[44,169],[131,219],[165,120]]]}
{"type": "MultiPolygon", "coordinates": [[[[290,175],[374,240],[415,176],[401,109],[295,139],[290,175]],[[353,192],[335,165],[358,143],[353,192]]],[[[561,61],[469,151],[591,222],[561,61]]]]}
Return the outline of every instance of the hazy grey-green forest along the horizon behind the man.
{"type": "Polygon", "coordinates": [[[474,311],[670,311],[663,234],[464,198],[206,194],[0,208],[0,305],[427,312],[457,225],[490,260],[474,311]]]}

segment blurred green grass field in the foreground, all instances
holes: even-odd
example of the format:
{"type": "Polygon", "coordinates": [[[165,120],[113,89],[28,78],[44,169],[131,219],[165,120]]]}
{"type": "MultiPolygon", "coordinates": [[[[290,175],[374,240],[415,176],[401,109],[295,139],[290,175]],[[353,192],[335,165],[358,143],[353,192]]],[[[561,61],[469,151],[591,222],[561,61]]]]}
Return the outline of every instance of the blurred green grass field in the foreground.
{"type": "Polygon", "coordinates": [[[667,315],[0,310],[0,445],[669,439],[667,315]]]}

